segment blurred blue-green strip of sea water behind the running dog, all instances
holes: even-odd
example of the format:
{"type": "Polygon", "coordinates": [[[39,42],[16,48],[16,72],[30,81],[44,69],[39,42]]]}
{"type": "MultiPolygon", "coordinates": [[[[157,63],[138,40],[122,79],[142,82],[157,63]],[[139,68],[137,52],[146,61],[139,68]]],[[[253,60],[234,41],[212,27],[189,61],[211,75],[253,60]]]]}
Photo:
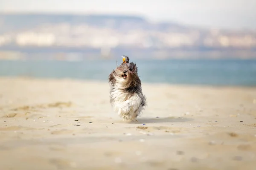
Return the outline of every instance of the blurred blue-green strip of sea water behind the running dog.
{"type": "MultiPolygon", "coordinates": [[[[120,59],[121,62],[121,59],[120,59]]],[[[119,64],[120,64],[119,62],[119,64]]],[[[256,86],[256,59],[136,60],[142,82],[183,85],[256,86]]],[[[0,60],[1,77],[71,78],[108,82],[116,60],[0,60]]]]}

